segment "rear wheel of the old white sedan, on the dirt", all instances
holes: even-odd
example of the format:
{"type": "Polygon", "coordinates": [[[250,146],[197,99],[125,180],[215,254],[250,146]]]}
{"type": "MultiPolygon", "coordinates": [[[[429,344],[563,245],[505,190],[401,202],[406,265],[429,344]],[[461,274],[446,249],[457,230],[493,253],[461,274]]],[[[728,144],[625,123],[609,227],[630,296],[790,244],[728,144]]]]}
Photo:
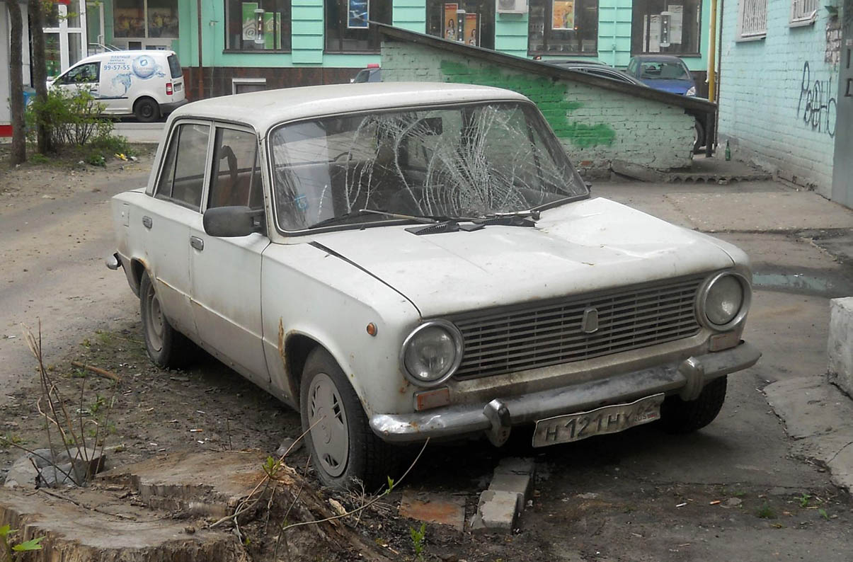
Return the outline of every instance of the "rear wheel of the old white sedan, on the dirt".
{"type": "Polygon", "coordinates": [[[139,316],[142,317],[142,333],[151,361],[162,368],[185,367],[192,361],[195,345],[171,327],[147,272],[142,274],[139,283],[139,316]]]}

